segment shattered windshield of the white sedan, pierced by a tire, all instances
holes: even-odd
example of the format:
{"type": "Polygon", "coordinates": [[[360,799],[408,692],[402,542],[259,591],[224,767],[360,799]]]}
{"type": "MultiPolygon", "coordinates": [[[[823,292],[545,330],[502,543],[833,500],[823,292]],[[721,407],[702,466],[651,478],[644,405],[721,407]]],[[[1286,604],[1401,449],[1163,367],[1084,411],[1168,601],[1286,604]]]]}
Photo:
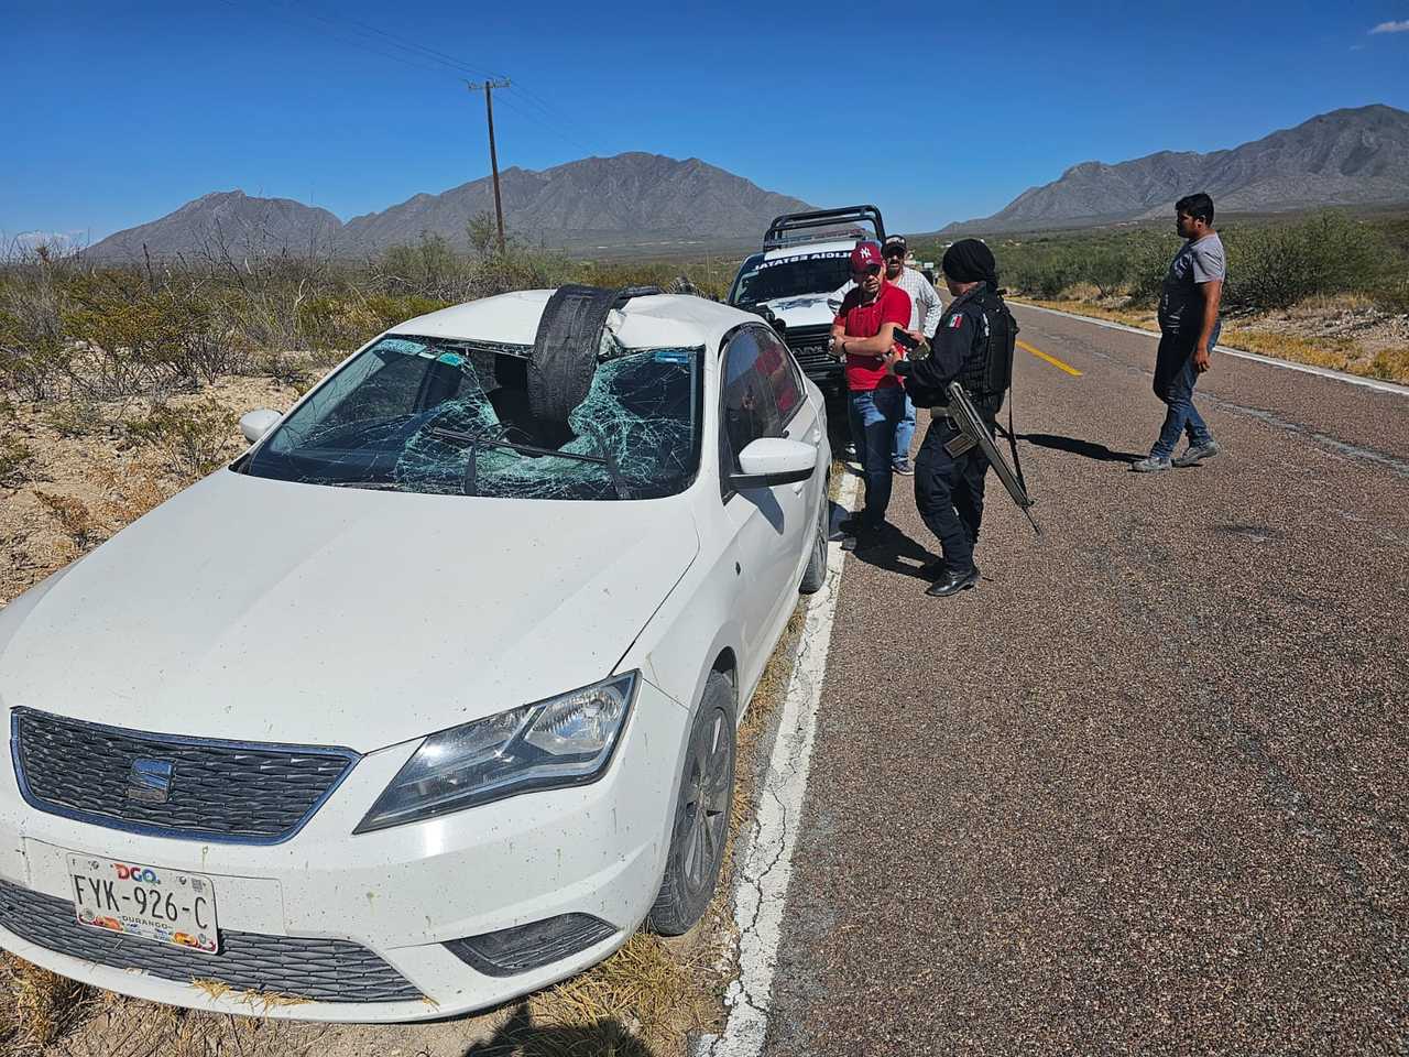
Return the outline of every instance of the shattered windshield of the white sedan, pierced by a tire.
{"type": "Polygon", "coordinates": [[[513,499],[654,499],[699,465],[699,348],[607,335],[568,435],[534,417],[523,345],[385,337],[242,466],[317,485],[513,499]]]}

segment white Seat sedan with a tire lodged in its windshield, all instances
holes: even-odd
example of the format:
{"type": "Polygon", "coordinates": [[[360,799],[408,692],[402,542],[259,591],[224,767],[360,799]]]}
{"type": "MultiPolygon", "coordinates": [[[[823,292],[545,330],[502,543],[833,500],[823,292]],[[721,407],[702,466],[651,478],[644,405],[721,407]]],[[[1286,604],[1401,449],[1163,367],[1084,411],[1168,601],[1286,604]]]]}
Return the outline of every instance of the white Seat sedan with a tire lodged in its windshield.
{"type": "Polygon", "coordinates": [[[410,320],[247,414],[237,462],[0,610],[0,947],[413,1020],[685,932],[826,574],[823,416],[757,317],[588,288],[410,320]]]}

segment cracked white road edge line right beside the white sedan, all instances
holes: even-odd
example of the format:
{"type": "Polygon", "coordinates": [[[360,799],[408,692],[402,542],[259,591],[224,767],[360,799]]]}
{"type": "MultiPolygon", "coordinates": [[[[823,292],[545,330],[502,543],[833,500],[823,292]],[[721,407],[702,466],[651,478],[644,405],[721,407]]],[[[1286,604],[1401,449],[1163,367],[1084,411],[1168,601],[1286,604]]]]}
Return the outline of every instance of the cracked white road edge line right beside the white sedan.
{"type": "MultiPolygon", "coordinates": [[[[847,475],[838,503],[855,502],[857,478],[847,475]]],[[[837,591],[847,552],[837,541],[827,544],[827,582],[807,600],[799,637],[797,661],[788,681],[788,695],[778,722],[768,774],[758,789],[757,822],[747,847],[740,850],[734,881],[734,926],[738,933],[738,977],[724,995],[728,1018],[721,1034],[700,1037],[697,1057],[758,1057],[768,1033],[774,968],[782,940],[783,901],[792,879],[807,769],[817,733],[817,705],[827,672],[837,591]]]]}

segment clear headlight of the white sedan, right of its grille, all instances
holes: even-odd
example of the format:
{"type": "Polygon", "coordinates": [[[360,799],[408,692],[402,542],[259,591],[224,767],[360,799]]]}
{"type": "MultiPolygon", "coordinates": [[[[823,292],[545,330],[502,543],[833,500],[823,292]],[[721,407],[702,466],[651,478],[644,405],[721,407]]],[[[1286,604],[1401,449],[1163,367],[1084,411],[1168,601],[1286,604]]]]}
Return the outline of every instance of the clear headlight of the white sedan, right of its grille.
{"type": "Polygon", "coordinates": [[[504,796],[602,777],[635,699],[637,672],[431,734],[354,833],[434,819],[504,796]]]}

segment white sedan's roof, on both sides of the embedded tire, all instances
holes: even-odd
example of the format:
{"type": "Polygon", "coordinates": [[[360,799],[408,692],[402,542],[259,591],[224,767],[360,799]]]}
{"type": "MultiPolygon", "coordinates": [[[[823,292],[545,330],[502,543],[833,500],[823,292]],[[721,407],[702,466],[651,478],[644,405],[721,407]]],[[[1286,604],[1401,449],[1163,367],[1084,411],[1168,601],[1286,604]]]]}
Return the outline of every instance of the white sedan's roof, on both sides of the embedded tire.
{"type": "MultiPolygon", "coordinates": [[[[533,345],[552,290],[514,290],[457,304],[392,327],[392,334],[533,345]]],[[[613,313],[612,330],[627,348],[719,348],[724,334],[757,316],[693,295],[633,297],[613,313]]]]}

